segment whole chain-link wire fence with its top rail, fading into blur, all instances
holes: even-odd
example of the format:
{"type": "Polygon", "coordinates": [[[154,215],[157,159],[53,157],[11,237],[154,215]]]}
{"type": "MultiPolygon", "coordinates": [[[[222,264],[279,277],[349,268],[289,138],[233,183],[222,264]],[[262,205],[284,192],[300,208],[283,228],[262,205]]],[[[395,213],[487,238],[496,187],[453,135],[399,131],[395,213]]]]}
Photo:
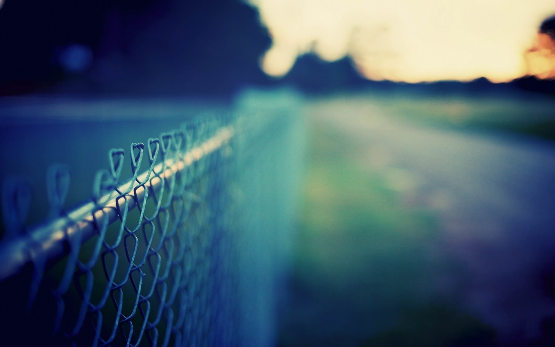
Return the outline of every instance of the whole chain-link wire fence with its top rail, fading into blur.
{"type": "Polygon", "coordinates": [[[3,340],[274,345],[301,123],[279,112],[199,118],[133,143],[130,179],[120,177],[125,151],[113,149],[92,198],[69,210],[68,170],[53,166],[49,218],[34,228],[24,223],[28,189],[5,184],[3,340]]]}

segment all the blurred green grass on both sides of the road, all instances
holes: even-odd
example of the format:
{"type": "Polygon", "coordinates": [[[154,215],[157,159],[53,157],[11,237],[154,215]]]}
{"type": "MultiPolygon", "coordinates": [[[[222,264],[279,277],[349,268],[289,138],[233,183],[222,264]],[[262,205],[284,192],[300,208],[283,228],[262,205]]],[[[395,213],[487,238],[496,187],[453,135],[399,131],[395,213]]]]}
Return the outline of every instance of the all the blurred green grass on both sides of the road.
{"type": "Polygon", "coordinates": [[[402,187],[402,172],[397,179],[369,168],[368,149],[318,122],[320,112],[345,118],[381,112],[428,127],[554,138],[542,125],[553,124],[554,105],[546,98],[418,95],[309,103],[313,122],[294,293],[281,344],[496,345],[495,330],[437,290],[442,273],[460,270],[435,250],[442,232],[436,212],[407,203],[413,197],[402,187]]]}

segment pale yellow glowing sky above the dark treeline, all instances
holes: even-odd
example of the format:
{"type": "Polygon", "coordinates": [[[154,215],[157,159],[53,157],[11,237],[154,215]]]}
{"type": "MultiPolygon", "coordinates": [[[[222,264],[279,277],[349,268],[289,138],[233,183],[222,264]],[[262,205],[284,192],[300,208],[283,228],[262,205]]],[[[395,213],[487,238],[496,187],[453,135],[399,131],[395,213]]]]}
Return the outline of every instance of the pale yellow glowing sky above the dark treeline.
{"type": "Polygon", "coordinates": [[[299,54],[349,54],[371,79],[508,81],[526,72],[524,52],[554,0],[250,0],[273,46],[261,61],[286,74],[299,54]]]}

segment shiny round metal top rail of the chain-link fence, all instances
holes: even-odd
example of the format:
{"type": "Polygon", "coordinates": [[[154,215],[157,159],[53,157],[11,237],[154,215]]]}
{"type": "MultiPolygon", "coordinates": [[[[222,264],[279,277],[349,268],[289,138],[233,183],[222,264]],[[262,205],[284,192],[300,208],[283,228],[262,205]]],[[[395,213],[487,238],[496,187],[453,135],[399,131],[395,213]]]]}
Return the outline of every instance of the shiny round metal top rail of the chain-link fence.
{"type": "MultiPolygon", "coordinates": [[[[155,164],[154,168],[151,167],[119,184],[118,187],[127,187],[124,189],[127,193],[122,194],[118,189],[114,189],[103,194],[97,201],[89,199],[63,216],[39,224],[25,234],[0,240],[0,281],[17,274],[29,262],[40,264],[47,259],[62,256],[67,252],[66,242],[72,242],[74,239],[85,242],[92,238],[96,232],[96,225],[109,225],[118,220],[118,209],[121,209],[119,199],[124,199],[127,212],[133,210],[138,202],[143,201],[149,188],[158,188],[164,179],[173,177],[206,155],[224,147],[234,134],[233,125],[221,127],[212,137],[187,150],[180,157],[165,159],[155,164]],[[150,177],[152,172],[159,173],[156,177],[160,179],[150,177]]],[[[123,213],[125,212],[124,210],[123,213]]]]}

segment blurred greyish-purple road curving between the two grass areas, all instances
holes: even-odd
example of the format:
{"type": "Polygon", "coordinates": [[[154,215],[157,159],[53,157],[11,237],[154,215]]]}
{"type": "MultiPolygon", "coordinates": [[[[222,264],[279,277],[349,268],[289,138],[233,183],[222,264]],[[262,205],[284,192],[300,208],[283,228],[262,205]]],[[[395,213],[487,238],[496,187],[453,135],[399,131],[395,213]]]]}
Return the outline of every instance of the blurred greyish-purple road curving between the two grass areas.
{"type": "Polygon", "coordinates": [[[412,124],[375,105],[315,103],[313,122],[353,142],[407,207],[440,223],[433,252],[456,268],[438,293],[498,330],[538,334],[555,314],[555,144],[518,135],[412,124]]]}

